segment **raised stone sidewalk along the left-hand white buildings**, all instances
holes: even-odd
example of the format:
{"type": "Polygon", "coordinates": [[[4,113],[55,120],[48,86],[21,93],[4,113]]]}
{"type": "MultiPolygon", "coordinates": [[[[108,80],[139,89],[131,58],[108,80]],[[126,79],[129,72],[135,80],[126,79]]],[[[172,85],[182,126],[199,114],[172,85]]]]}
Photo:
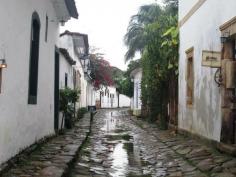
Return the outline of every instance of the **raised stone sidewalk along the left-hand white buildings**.
{"type": "Polygon", "coordinates": [[[66,177],[91,133],[92,118],[87,113],[76,126],[49,139],[29,154],[19,154],[12,166],[0,171],[1,177],[66,177]]]}

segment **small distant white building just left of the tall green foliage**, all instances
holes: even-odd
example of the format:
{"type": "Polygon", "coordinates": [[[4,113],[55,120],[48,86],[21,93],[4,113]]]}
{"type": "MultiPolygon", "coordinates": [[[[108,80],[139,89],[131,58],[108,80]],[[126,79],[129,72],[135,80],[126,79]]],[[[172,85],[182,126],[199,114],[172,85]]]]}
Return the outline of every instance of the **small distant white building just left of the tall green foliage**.
{"type": "Polygon", "coordinates": [[[133,109],[133,114],[136,116],[141,115],[142,101],[141,101],[141,81],[142,81],[142,69],[137,68],[133,70],[130,74],[134,82],[134,96],[132,98],[131,108],[133,109]]]}

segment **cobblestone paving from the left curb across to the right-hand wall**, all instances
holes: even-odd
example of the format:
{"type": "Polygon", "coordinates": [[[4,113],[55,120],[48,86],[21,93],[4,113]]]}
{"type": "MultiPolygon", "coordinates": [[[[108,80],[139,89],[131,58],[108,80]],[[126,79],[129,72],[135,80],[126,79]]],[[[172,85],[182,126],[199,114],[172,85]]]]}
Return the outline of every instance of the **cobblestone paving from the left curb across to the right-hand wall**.
{"type": "Polygon", "coordinates": [[[101,110],[72,177],[233,177],[236,159],[173,136],[124,110],[101,110]]]}

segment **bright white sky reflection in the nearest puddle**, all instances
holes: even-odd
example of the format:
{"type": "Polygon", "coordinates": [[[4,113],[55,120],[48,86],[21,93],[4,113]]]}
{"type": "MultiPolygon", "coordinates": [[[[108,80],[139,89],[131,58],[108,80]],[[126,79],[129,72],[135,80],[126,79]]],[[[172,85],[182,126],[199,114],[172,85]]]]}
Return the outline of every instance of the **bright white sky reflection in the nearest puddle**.
{"type": "Polygon", "coordinates": [[[113,162],[112,168],[115,169],[111,176],[121,177],[125,176],[128,167],[128,154],[123,148],[124,144],[119,143],[115,146],[114,152],[112,154],[113,162]]]}

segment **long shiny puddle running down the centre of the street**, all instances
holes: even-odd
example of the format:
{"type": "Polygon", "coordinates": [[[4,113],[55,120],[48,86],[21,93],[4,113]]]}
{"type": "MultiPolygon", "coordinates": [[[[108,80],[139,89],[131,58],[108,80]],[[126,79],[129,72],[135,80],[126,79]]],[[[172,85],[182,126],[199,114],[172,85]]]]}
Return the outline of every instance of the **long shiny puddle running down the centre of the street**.
{"type": "Polygon", "coordinates": [[[149,165],[141,158],[141,151],[134,143],[134,137],[121,126],[119,115],[109,112],[101,130],[109,148],[111,159],[110,175],[113,177],[149,177],[145,173],[149,165]]]}

